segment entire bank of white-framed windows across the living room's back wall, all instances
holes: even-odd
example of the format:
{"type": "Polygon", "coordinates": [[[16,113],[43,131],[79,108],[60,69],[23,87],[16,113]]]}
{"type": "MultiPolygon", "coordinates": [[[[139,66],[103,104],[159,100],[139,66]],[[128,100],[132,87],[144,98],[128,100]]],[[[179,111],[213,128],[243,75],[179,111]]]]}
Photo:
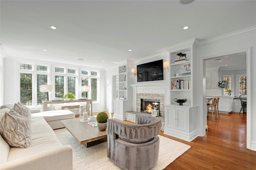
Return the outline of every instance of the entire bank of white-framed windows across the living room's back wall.
{"type": "Polygon", "coordinates": [[[18,101],[26,106],[42,105],[47,100],[48,92],[41,92],[41,85],[54,85],[49,92],[49,99],[63,97],[70,92],[80,97],[100,101],[100,71],[80,69],[78,67],[38,64],[33,62],[18,62],[18,81],[20,83],[18,101]],[[52,70],[51,70],[52,68],[52,70]],[[78,75],[80,73],[80,75],[78,75]],[[91,87],[90,92],[82,92],[84,85],[91,87]],[[81,92],[81,93],[80,93],[81,92]]]}

